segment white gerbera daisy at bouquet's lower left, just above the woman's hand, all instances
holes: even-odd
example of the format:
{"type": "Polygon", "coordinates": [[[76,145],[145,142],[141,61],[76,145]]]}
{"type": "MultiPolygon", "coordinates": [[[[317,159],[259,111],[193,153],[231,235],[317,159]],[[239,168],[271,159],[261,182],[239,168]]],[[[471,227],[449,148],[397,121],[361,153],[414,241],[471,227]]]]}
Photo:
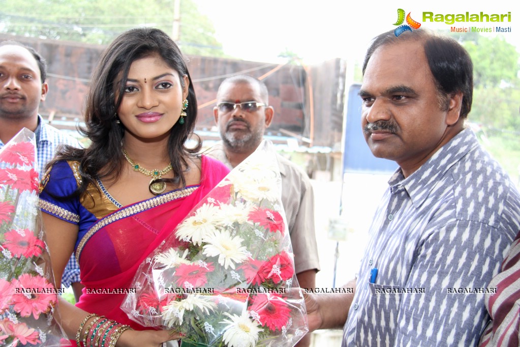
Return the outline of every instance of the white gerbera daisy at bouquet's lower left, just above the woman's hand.
{"type": "Polygon", "coordinates": [[[201,294],[188,294],[186,299],[181,301],[173,300],[162,307],[163,324],[168,328],[174,325],[181,325],[184,321],[184,313],[193,311],[197,315],[210,314],[210,311],[215,311],[217,305],[212,298],[201,294]]]}

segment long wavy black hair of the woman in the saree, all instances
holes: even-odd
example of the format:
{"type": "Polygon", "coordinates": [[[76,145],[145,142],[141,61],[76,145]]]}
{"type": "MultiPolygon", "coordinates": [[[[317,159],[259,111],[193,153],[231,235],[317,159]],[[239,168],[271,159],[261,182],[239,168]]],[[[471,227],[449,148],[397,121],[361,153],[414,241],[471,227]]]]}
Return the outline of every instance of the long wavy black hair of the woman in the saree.
{"type": "Polygon", "coordinates": [[[174,178],[163,179],[182,187],[186,186],[184,174],[189,167],[187,158],[196,155],[202,146],[198,137],[196,146],[186,146],[186,140],[192,134],[197,120],[197,100],[190,74],[179,48],[166,33],[154,28],[138,28],[128,30],[115,38],[102,54],[92,75],[85,109],[85,127],[80,128],[80,133],[90,139],[91,144],[85,149],[65,147],[48,164],[50,167],[58,160],[80,161],[82,183],[74,195],[82,194],[88,184],[94,183],[97,178],[119,177],[124,164],[121,151],[124,131],[123,124],[116,122],[116,111],[123,98],[132,62],[152,54],[159,54],[168,66],[179,73],[183,86],[182,76],[188,76],[187,117],[184,118],[184,124],[175,123],[168,139],[168,154],[174,178]],[[118,95],[117,99],[115,95],[118,95]]]}

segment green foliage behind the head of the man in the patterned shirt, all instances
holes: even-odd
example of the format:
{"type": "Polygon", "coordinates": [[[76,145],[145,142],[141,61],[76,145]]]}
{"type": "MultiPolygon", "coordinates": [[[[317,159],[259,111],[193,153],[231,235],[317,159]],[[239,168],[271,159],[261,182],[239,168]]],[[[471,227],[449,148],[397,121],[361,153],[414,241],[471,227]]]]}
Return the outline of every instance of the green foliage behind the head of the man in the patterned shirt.
{"type": "Polygon", "coordinates": [[[502,36],[476,33],[459,41],[473,60],[473,106],[469,120],[479,123],[479,138],[495,159],[520,185],[520,91],[516,48],[502,36]]]}

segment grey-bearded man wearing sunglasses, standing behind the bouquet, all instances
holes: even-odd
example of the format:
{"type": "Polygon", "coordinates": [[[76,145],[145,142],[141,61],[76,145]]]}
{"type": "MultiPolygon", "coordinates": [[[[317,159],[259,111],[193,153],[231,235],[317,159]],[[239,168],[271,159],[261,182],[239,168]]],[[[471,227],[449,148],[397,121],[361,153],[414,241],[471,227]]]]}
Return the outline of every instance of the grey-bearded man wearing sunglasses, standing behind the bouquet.
{"type": "MultiPolygon", "coordinates": [[[[220,84],[215,123],[222,141],[207,153],[234,168],[260,145],[272,122],[274,109],[269,105],[266,85],[252,76],[232,76],[220,84]]],[[[314,226],[314,192],[310,180],[300,168],[278,155],[282,177],[282,203],[287,214],[294,252],[294,266],[302,288],[314,288],[319,271],[314,226]]],[[[298,346],[309,345],[310,339],[298,346]]]]}

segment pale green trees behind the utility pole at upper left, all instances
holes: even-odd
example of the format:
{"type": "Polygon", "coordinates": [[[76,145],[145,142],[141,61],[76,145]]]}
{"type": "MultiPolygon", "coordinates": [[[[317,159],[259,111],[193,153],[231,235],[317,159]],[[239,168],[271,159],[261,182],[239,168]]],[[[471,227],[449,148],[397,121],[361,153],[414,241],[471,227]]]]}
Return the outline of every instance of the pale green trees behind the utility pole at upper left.
{"type": "MultiPolygon", "coordinates": [[[[18,0],[0,7],[0,31],[108,44],[129,28],[151,26],[172,35],[175,0],[18,0]],[[37,15],[35,15],[37,14],[37,15]],[[159,14],[159,15],[158,15],[159,14]]],[[[177,43],[188,55],[223,56],[213,23],[192,0],[180,0],[177,43]]]]}

